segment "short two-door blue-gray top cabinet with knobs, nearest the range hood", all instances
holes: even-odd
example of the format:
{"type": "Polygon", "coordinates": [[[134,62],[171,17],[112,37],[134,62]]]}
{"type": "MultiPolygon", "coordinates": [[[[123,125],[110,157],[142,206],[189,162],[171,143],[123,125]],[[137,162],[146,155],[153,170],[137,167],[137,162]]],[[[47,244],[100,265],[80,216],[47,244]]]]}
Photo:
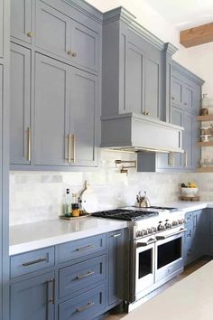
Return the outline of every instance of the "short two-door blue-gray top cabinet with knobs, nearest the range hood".
{"type": "MultiPolygon", "coordinates": [[[[98,71],[100,34],[92,24],[84,25],[59,8],[36,1],[35,45],[91,71],[98,71]]],[[[85,19],[86,21],[87,19],[85,19]]]]}

